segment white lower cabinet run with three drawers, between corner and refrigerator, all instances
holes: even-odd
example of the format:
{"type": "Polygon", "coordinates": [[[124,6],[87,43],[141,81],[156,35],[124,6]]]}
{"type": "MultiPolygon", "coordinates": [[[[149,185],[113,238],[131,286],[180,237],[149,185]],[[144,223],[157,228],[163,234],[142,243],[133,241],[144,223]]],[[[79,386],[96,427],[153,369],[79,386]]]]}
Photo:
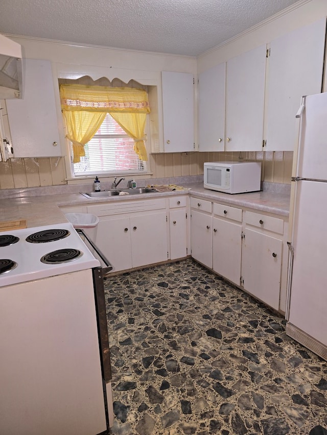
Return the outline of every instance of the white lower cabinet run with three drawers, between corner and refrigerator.
{"type": "Polygon", "coordinates": [[[191,198],[192,257],[285,312],[284,219],[191,198]]]}

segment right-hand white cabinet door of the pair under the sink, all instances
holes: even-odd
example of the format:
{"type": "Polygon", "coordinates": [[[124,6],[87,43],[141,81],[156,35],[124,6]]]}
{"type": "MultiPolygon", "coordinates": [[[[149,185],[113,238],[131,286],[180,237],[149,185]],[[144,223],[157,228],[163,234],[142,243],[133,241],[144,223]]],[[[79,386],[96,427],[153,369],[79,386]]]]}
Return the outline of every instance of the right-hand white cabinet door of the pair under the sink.
{"type": "Polygon", "coordinates": [[[130,218],[133,267],[168,259],[165,213],[151,213],[130,218]]]}

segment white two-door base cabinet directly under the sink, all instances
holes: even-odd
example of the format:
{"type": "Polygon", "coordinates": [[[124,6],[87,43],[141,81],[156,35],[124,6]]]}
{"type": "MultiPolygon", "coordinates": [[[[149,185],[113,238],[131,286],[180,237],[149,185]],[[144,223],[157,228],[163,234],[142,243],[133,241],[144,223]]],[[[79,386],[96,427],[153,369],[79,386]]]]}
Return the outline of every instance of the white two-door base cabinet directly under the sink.
{"type": "Polygon", "coordinates": [[[99,216],[96,245],[113,271],[168,259],[165,199],[108,202],[88,206],[87,212],[99,216]]]}

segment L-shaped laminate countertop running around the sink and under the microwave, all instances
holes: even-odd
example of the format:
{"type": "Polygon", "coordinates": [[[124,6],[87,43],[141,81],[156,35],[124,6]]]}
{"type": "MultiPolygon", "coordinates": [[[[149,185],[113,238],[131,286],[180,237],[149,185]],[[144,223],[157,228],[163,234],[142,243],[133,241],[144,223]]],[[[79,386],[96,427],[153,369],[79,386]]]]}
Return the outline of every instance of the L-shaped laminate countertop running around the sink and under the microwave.
{"type": "MultiPolygon", "coordinates": [[[[28,227],[67,222],[60,207],[89,206],[101,202],[130,201],[136,199],[167,197],[172,195],[191,195],[211,201],[272,213],[279,216],[289,215],[290,195],[273,191],[260,191],[229,195],[203,188],[203,183],[184,184],[188,190],[172,192],[153,192],[139,195],[111,196],[107,198],[86,198],[79,192],[35,194],[36,189],[12,192],[11,196],[0,192],[0,221],[25,219],[28,227]],[[30,196],[29,196],[30,193],[30,196]],[[16,194],[16,196],[15,196],[16,194]]],[[[83,190],[81,190],[83,191],[83,190]]],[[[84,191],[85,188],[84,188],[84,191]]]]}

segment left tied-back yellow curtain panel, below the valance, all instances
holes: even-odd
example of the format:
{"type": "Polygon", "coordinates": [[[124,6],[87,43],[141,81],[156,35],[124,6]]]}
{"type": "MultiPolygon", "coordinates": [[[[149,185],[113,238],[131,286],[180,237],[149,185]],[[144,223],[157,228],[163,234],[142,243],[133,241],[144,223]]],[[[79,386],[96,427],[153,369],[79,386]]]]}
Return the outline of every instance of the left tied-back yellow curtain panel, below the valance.
{"type": "Polygon", "coordinates": [[[73,143],[73,163],[85,156],[84,145],[92,139],[106,117],[102,112],[63,112],[66,120],[66,137],[73,143]]]}

